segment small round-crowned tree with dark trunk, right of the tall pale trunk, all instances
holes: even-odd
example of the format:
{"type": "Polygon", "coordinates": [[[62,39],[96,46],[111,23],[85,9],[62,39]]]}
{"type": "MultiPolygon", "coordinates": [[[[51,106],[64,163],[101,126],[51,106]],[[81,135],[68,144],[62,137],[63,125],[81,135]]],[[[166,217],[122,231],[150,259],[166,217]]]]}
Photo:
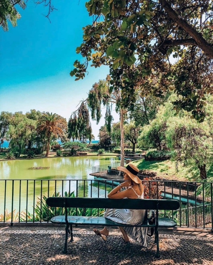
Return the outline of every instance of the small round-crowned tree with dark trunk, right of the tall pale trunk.
{"type": "Polygon", "coordinates": [[[135,152],[141,127],[136,126],[135,122],[124,125],[124,138],[132,143],[132,152],[135,152]]]}

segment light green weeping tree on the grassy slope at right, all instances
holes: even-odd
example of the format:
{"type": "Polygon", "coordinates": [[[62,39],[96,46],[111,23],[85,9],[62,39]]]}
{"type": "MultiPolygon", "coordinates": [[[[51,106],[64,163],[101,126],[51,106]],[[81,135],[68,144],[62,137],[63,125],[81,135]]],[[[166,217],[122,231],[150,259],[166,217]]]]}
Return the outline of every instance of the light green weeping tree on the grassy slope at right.
{"type": "Polygon", "coordinates": [[[212,97],[207,98],[204,111],[206,119],[202,123],[192,120],[189,113],[180,111],[176,115],[171,101],[177,96],[172,94],[168,102],[161,106],[156,118],[143,127],[139,137],[140,145],[152,145],[157,150],[173,151],[176,169],[181,163],[189,170],[194,170],[194,178],[204,180],[210,168],[209,152],[212,148],[212,97]],[[210,118],[211,117],[211,118],[210,118]]]}

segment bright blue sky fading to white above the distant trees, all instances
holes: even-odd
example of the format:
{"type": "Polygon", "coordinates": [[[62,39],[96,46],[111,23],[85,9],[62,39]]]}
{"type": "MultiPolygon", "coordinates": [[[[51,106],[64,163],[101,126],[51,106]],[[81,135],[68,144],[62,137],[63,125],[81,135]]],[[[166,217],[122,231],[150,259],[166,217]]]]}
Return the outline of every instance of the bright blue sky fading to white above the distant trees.
{"type": "MultiPolygon", "coordinates": [[[[108,74],[107,67],[90,67],[84,80],[74,81],[69,73],[73,62],[81,59],[75,49],[82,41],[82,27],[91,24],[86,1],[54,1],[58,10],[45,17],[48,10],[33,1],[19,9],[18,26],[9,31],[0,28],[0,112],[55,112],[67,121],[77,104],[99,79],[108,74]]],[[[103,116],[104,116],[103,110],[103,116]]],[[[113,111],[115,122],[119,117],[113,111]]],[[[95,139],[99,125],[91,122],[95,139]]]]}

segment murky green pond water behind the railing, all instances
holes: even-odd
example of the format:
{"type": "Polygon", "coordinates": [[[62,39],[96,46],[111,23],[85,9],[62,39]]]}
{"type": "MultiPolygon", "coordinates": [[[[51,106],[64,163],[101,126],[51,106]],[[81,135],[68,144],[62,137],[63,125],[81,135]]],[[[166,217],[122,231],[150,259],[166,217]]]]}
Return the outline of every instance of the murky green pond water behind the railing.
{"type": "MultiPolygon", "coordinates": [[[[117,162],[116,156],[0,161],[0,214],[4,213],[4,209],[8,212],[28,210],[32,213],[33,205],[41,194],[54,196],[56,192],[64,195],[65,192],[74,191],[80,197],[105,197],[105,185],[94,182],[94,177],[89,174],[94,166],[107,168],[107,165],[117,162]],[[49,168],[29,169],[32,167],[49,168]]],[[[108,186],[107,193],[111,189],[108,186]]]]}

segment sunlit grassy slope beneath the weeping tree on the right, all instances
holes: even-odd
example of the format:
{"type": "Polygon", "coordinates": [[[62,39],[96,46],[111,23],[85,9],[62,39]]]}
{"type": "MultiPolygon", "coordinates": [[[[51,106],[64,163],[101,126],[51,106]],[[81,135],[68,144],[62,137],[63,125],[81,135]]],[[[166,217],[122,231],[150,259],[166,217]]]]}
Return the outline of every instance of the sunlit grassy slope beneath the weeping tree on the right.
{"type": "Polygon", "coordinates": [[[179,180],[179,181],[188,181],[193,180],[193,175],[195,171],[190,170],[189,168],[178,166],[178,171],[175,169],[175,163],[170,160],[164,161],[145,161],[145,159],[140,159],[133,161],[139,170],[150,170],[156,171],[157,176],[161,178],[167,178],[170,180],[179,180]]]}

